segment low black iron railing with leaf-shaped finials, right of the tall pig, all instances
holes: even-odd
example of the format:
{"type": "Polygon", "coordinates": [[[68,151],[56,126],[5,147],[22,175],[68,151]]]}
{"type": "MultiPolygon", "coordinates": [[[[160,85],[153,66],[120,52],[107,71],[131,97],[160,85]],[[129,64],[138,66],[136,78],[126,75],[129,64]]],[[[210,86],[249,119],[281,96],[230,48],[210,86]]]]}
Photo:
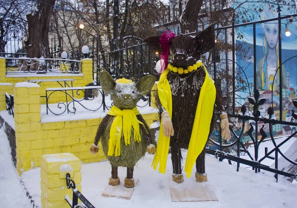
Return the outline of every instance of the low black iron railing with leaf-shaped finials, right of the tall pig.
{"type": "MultiPolygon", "coordinates": [[[[261,98],[259,91],[255,91],[254,97],[249,97],[248,101],[250,104],[253,105],[253,111],[251,114],[248,113],[247,107],[243,105],[241,107],[241,112],[238,115],[229,114],[229,118],[237,119],[238,122],[242,123],[242,127],[240,129],[236,129],[235,126],[230,130],[232,132],[232,139],[231,141],[223,141],[219,135],[218,141],[214,140],[213,136],[210,136],[208,145],[215,145],[217,146],[217,150],[207,149],[206,152],[216,157],[219,157],[219,160],[222,161],[223,159],[228,159],[229,163],[231,161],[235,161],[237,163],[237,171],[239,171],[240,164],[246,164],[252,167],[252,169],[257,173],[260,172],[261,169],[275,173],[275,178],[278,180],[278,175],[283,175],[290,177],[292,179],[297,178],[296,173],[290,173],[286,171],[286,167],[279,165],[279,155],[281,155],[287,162],[287,167],[297,165],[297,156],[294,159],[289,158],[288,156],[283,153],[280,148],[289,140],[294,139],[297,136],[297,114],[293,111],[292,119],[290,122],[288,121],[280,121],[274,115],[274,110],[272,107],[269,107],[267,110],[266,116],[261,116],[259,111],[259,107],[263,105],[266,101],[265,98],[261,98]],[[261,122],[259,124],[259,122],[261,122]],[[248,125],[246,125],[248,123],[248,125]],[[274,125],[285,125],[288,126],[288,129],[291,129],[290,133],[283,138],[284,141],[277,144],[277,138],[275,138],[273,133],[273,126],[274,125]],[[249,129],[246,131],[246,126],[249,126],[249,129]],[[267,132],[268,130],[268,132],[267,132]],[[248,135],[248,146],[252,145],[253,152],[250,152],[251,148],[247,149],[247,143],[244,144],[243,142],[243,135],[246,133],[248,135]],[[268,148],[265,147],[264,149],[264,156],[259,157],[259,146],[265,145],[266,138],[270,137],[270,141],[272,141],[274,148],[268,151],[268,148]],[[248,141],[251,141],[250,143],[248,141]],[[226,153],[226,149],[231,148],[235,149],[235,151],[231,151],[231,153],[226,153]],[[241,158],[241,153],[244,152],[247,154],[249,159],[241,158]],[[236,155],[233,155],[236,154],[236,155]],[[274,160],[274,167],[269,165],[265,165],[265,159],[272,159],[274,160]]],[[[297,100],[293,101],[294,106],[297,108],[297,100]]],[[[292,146],[293,147],[293,146],[292,146]]],[[[289,168],[287,168],[289,169],[289,168]]]]}

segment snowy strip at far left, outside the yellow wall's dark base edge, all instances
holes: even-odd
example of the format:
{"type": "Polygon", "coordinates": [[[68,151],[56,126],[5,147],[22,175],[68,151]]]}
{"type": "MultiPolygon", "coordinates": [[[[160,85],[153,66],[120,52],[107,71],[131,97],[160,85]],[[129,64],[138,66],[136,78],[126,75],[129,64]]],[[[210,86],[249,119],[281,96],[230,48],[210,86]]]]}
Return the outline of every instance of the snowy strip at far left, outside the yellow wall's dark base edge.
{"type": "Polygon", "coordinates": [[[0,205],[1,208],[32,208],[13,166],[3,127],[0,129],[0,205]]]}

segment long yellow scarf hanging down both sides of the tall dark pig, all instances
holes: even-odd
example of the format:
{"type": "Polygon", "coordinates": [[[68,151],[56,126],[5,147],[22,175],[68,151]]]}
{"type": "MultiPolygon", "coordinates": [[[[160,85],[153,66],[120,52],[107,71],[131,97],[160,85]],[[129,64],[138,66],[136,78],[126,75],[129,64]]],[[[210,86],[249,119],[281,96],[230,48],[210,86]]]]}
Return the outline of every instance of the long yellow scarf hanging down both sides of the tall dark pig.
{"type": "MultiPolygon", "coordinates": [[[[193,166],[197,157],[202,152],[208,138],[210,122],[213,113],[213,107],[215,102],[216,90],[214,81],[209,77],[206,68],[205,80],[200,90],[198,105],[195,113],[195,120],[192,129],[190,144],[188,148],[188,154],[186,158],[185,172],[187,177],[191,176],[193,166]]],[[[162,106],[169,113],[169,117],[172,117],[172,95],[167,75],[169,70],[166,69],[160,76],[158,82],[158,96],[162,106]]],[[[159,171],[165,173],[166,162],[169,150],[170,137],[165,137],[163,134],[163,126],[161,119],[160,133],[157,144],[157,151],[153,158],[151,166],[156,170],[159,163],[159,171]]]]}

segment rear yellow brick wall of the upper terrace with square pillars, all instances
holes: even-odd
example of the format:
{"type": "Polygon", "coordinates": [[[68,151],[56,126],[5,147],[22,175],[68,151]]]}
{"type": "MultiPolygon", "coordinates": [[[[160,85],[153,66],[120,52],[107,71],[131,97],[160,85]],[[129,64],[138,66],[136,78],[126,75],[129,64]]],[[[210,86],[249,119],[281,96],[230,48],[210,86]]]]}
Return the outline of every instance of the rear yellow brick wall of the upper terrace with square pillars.
{"type": "MultiPolygon", "coordinates": [[[[82,74],[70,74],[63,73],[63,76],[49,76],[47,74],[41,74],[40,76],[31,77],[11,77],[11,74],[5,74],[5,58],[0,57],[0,83],[11,83],[13,86],[18,82],[24,82],[29,79],[74,79],[73,87],[84,87],[89,83],[93,83],[93,61],[92,59],[82,59],[81,60],[82,74]],[[67,75],[67,76],[65,76],[67,75]]],[[[28,73],[27,73],[28,74],[28,73]]],[[[26,74],[26,75],[27,75],[26,74]]],[[[14,75],[13,75],[14,76],[14,75]]],[[[64,86],[64,82],[60,82],[64,86]]],[[[71,87],[71,83],[67,82],[71,87]]],[[[41,96],[46,95],[47,88],[60,88],[61,86],[57,82],[42,82],[39,84],[41,88],[41,96]]],[[[1,92],[0,92],[1,93],[1,92]]],[[[49,103],[59,103],[65,102],[64,93],[54,93],[50,99],[49,103]]],[[[0,100],[2,102],[2,100],[0,100]]],[[[1,104],[1,103],[0,103],[1,104]]],[[[46,98],[41,98],[41,104],[46,104],[46,98]]],[[[0,105],[1,107],[1,105],[0,105]]],[[[0,108],[1,109],[1,108],[0,108]]]]}

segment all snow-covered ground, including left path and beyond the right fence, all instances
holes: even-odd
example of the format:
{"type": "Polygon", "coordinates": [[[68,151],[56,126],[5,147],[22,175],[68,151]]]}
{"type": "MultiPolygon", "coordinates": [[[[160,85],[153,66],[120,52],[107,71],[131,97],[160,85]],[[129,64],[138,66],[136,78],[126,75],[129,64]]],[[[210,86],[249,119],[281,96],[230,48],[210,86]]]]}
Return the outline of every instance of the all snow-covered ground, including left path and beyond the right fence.
{"type": "MultiPolygon", "coordinates": [[[[276,140],[281,143],[285,138],[276,140]]],[[[286,153],[296,141],[292,138],[281,151],[286,153]]],[[[274,148],[271,141],[264,142],[259,148],[259,157],[264,156],[264,148],[268,151],[274,148]]],[[[249,151],[253,155],[253,149],[249,151]]],[[[186,158],[187,151],[183,151],[186,158]]],[[[286,155],[286,154],[285,154],[286,155]]],[[[236,165],[219,162],[214,156],[206,155],[206,172],[208,182],[197,183],[195,181],[195,167],[190,179],[185,177],[185,182],[178,186],[204,186],[207,185],[217,195],[218,202],[171,202],[171,155],[168,155],[166,174],[154,171],[150,165],[153,156],[146,155],[139,161],[134,170],[134,177],[139,178],[131,200],[102,197],[101,194],[107,186],[111,167],[107,161],[82,165],[82,193],[97,208],[296,208],[297,183],[289,183],[280,178],[276,183],[273,174],[261,171],[255,174],[249,167],[241,165],[240,171],[236,171],[236,165]]],[[[247,158],[246,156],[241,156],[247,158]]],[[[293,159],[293,158],[292,158],[293,159]]],[[[185,161],[184,161],[185,162],[185,161]]],[[[264,164],[272,165],[273,160],[265,159],[264,164]]],[[[119,168],[119,177],[123,182],[126,168],[119,168]]],[[[41,207],[40,196],[40,168],[28,170],[21,176],[27,191],[35,201],[35,205],[41,207]]],[[[20,179],[12,164],[10,147],[7,137],[0,129],[0,203],[3,208],[31,208],[30,200],[26,197],[20,179]]]]}

